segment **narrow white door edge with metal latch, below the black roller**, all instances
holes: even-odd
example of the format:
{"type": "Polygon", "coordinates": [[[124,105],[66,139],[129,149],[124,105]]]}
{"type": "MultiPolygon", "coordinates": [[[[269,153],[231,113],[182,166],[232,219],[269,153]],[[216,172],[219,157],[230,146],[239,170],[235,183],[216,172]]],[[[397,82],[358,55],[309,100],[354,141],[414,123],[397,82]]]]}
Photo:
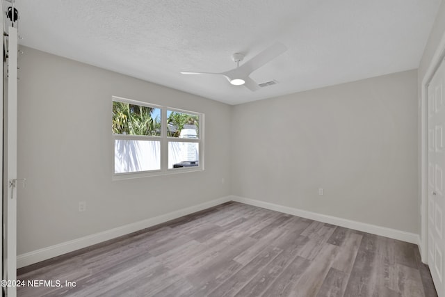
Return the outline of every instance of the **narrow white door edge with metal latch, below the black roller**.
{"type": "MultiPolygon", "coordinates": [[[[6,257],[3,278],[15,281],[17,278],[17,186],[24,180],[17,179],[17,29],[8,29],[8,79],[7,90],[3,93],[5,129],[3,130],[3,223],[6,236],[3,240],[3,254],[6,257]]],[[[6,296],[17,295],[14,286],[6,287],[6,296]]]]}

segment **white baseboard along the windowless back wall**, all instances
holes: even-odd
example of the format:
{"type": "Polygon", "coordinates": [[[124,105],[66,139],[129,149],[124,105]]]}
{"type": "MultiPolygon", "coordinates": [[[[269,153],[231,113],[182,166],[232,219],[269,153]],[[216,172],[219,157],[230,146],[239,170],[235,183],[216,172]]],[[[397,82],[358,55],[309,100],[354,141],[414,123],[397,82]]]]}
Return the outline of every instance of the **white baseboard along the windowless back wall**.
{"type": "Polygon", "coordinates": [[[359,230],[362,232],[367,232],[375,235],[389,237],[391,239],[398,239],[401,241],[406,241],[409,243],[414,243],[419,245],[419,235],[405,232],[401,230],[395,230],[387,227],[380,227],[377,225],[372,225],[368,223],[357,222],[355,220],[348,220],[346,218],[337,218],[336,216],[327,216],[325,214],[317,214],[312,211],[305,211],[302,209],[296,209],[293,207],[285,207],[278,204],[273,204],[270,202],[264,202],[260,200],[254,200],[250,198],[238,197],[235,195],[230,196],[232,201],[241,202],[244,204],[250,204],[255,207],[262,207],[265,209],[270,209],[274,211],[280,211],[284,214],[291,214],[293,216],[301,216],[302,218],[309,218],[311,220],[318,220],[323,223],[328,223],[332,225],[337,225],[341,227],[346,227],[354,230],[359,230]]]}

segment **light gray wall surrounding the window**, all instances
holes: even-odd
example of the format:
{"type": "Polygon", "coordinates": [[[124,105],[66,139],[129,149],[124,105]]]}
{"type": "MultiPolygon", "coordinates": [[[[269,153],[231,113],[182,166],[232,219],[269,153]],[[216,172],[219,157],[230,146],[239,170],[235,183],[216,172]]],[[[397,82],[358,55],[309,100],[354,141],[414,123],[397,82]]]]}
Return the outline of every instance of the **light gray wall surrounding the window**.
{"type": "Polygon", "coordinates": [[[231,106],[22,49],[18,255],[230,194],[231,106]],[[112,95],[205,113],[205,170],[112,181],[112,95]]]}

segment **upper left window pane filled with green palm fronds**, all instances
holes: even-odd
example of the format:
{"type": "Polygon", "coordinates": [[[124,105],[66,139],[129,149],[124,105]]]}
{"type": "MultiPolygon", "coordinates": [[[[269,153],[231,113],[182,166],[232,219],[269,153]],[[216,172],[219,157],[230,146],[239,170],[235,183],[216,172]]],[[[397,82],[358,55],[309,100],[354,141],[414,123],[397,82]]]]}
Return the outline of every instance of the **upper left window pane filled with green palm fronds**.
{"type": "Polygon", "coordinates": [[[161,109],[113,101],[113,133],[161,136],[161,109]]]}

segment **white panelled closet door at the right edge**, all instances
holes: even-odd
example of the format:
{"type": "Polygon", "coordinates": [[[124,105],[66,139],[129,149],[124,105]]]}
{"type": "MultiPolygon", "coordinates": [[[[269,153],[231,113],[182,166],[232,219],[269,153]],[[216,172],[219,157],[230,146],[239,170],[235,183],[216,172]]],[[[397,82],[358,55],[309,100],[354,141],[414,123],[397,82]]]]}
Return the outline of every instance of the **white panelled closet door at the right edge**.
{"type": "Polygon", "coordinates": [[[428,264],[439,297],[445,296],[444,170],[445,63],[428,86],[428,264]]]}

